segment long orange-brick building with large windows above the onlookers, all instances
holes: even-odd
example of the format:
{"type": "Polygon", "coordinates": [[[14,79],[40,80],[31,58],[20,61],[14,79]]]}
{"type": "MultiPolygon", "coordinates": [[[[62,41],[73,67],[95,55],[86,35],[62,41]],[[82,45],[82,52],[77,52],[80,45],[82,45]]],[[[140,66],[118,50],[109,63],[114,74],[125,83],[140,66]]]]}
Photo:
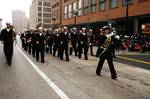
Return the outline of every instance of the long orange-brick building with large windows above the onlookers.
{"type": "MultiPolygon", "coordinates": [[[[62,1],[62,25],[96,30],[109,21],[118,32],[125,32],[126,0],[62,1]]],[[[142,25],[150,23],[150,0],[128,0],[128,4],[128,34],[138,34],[142,25]]]]}

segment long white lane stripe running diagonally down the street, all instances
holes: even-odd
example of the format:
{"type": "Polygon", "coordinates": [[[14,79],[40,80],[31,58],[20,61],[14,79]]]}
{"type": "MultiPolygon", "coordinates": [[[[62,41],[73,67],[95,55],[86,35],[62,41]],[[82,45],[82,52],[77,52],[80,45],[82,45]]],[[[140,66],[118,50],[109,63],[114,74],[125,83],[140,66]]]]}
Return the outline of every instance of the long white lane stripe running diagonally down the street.
{"type": "Polygon", "coordinates": [[[19,52],[31,64],[31,66],[41,75],[41,77],[48,83],[48,85],[60,96],[61,99],[69,99],[69,97],[51,80],[49,79],[29,58],[23,51],[17,47],[19,52]]]}

